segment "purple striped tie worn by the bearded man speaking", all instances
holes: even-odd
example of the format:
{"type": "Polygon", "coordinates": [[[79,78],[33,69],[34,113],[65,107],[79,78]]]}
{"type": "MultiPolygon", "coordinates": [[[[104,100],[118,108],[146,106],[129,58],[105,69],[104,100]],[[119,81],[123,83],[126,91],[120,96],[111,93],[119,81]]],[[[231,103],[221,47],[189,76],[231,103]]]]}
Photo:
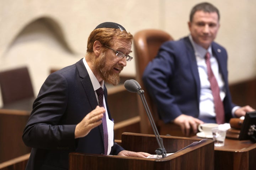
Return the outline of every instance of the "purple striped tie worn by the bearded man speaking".
{"type": "MultiPolygon", "coordinates": [[[[103,89],[100,87],[96,90],[96,93],[98,95],[98,102],[100,107],[104,107],[103,104],[103,89]]],[[[104,154],[107,155],[108,151],[108,132],[107,132],[107,119],[106,119],[106,113],[104,113],[102,118],[102,125],[103,125],[103,134],[104,134],[104,154]]]]}

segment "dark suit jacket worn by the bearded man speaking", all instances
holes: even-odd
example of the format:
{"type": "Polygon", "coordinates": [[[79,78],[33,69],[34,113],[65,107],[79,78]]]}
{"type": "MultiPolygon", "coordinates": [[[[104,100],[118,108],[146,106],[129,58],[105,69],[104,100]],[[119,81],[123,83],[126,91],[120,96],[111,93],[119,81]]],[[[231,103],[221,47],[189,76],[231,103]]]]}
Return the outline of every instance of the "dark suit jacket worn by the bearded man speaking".
{"type": "MultiPolygon", "coordinates": [[[[104,86],[107,105],[107,89],[104,86]]],[[[33,104],[23,132],[23,141],[32,147],[27,170],[68,169],[70,152],[104,153],[102,124],[85,137],[75,139],[78,124],[98,105],[82,60],[49,75],[33,104]]],[[[108,109],[108,116],[111,119],[108,109]]],[[[114,143],[110,154],[124,150],[114,143]]]]}

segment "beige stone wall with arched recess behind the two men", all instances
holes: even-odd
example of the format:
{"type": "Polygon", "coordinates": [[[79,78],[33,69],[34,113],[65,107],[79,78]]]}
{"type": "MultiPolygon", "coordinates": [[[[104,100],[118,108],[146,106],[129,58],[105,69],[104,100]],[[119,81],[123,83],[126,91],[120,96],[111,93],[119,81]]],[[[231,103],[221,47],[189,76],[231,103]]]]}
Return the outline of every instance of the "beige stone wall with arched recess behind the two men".
{"type": "MultiPolygon", "coordinates": [[[[188,15],[198,2],[1,0],[0,70],[27,65],[37,94],[50,68],[68,66],[84,56],[87,37],[99,23],[117,22],[132,34],[142,29],[162,29],[177,40],[188,35],[188,15]]],[[[230,83],[255,77],[256,1],[209,2],[220,10],[216,41],[228,50],[230,83]]],[[[133,60],[121,74],[135,73],[133,60]]]]}

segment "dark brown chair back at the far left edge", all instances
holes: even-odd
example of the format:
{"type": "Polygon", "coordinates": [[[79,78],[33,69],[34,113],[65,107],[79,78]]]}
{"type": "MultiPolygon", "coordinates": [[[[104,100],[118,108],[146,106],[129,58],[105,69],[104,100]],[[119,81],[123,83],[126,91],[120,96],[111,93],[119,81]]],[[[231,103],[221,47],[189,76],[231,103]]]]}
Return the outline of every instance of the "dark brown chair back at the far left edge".
{"type": "Polygon", "coordinates": [[[27,67],[0,72],[0,87],[4,105],[34,97],[27,67]]]}

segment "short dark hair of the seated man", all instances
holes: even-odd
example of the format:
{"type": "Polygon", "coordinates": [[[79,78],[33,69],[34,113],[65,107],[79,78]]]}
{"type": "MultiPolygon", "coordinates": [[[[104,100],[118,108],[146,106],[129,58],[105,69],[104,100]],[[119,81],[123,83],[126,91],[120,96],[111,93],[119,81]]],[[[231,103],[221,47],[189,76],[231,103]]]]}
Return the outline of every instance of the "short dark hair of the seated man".
{"type": "Polygon", "coordinates": [[[197,4],[194,6],[190,12],[190,22],[193,20],[193,16],[197,11],[204,11],[204,12],[216,12],[218,15],[218,21],[220,19],[219,10],[214,5],[208,3],[208,2],[202,2],[200,4],[197,4]]]}

